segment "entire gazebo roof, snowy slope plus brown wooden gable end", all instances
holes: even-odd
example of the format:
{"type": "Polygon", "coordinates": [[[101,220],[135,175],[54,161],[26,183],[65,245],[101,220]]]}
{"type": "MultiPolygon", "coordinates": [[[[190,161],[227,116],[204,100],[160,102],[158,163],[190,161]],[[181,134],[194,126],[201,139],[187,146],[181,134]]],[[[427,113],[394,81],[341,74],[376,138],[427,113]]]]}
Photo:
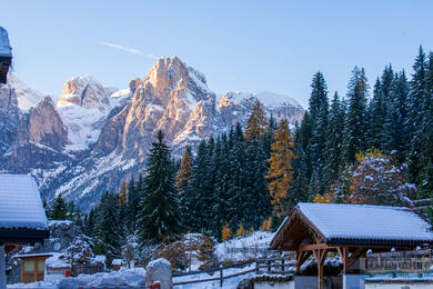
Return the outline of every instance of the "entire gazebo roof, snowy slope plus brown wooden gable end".
{"type": "Polygon", "coordinates": [[[271,248],[301,245],[300,236],[305,235],[299,231],[313,231],[328,245],[417,246],[433,243],[430,228],[416,212],[402,207],[299,203],[275,233],[271,248]]]}

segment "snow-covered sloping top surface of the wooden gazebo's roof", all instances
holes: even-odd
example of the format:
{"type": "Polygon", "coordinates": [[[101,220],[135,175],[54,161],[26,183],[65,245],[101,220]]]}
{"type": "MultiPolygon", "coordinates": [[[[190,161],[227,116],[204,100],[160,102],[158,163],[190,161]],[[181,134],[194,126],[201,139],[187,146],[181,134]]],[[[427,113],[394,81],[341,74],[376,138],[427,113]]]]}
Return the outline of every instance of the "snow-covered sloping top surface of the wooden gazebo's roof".
{"type": "Polygon", "coordinates": [[[299,210],[326,239],[433,241],[430,225],[407,208],[299,203],[299,210]]]}

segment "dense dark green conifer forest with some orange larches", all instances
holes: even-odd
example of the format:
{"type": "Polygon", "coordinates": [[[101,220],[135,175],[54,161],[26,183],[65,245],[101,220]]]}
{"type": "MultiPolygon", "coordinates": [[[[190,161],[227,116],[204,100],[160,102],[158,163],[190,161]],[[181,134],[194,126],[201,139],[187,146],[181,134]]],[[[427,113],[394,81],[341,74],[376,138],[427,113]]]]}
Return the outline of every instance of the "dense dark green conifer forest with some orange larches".
{"type": "MultiPolygon", "coordinates": [[[[159,132],[144,173],[78,218],[84,232],[98,252],[114,258],[131,240],[272,230],[302,201],[409,206],[431,197],[433,53],[420,47],[410,72],[387,64],[369,80],[355,67],[349,79],[340,96],[316,72],[301,123],[266,117],[258,101],[245,128],[202,140],[195,151],[188,147],[181,160],[159,132]]],[[[75,216],[60,199],[50,216],[75,216]]]]}

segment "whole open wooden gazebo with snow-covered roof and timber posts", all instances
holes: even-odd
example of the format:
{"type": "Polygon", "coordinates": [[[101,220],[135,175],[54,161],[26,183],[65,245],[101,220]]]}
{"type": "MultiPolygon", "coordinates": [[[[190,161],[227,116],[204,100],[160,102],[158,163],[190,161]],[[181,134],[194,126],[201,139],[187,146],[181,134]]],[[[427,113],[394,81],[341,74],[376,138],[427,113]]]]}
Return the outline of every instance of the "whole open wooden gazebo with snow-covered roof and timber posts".
{"type": "Polygon", "coordinates": [[[340,255],[343,273],[367,250],[413,250],[433,243],[430,225],[407,208],[299,203],[280,226],[271,249],[295,251],[296,273],[313,256],[318,263],[319,288],[323,288],[323,265],[328,252],[340,255]]]}

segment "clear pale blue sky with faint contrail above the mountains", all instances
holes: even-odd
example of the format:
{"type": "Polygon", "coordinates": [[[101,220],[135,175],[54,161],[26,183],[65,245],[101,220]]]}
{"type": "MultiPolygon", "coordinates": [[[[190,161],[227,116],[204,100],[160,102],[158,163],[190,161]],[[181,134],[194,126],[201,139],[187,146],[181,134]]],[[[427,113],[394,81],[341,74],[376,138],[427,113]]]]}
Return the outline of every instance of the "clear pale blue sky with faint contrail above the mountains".
{"type": "Polygon", "coordinates": [[[344,94],[355,64],[372,84],[386,63],[411,72],[419,46],[433,49],[430,0],[4,0],[1,10],[14,73],[48,94],[83,74],[125,88],[178,56],[216,93],[269,90],[306,107],[318,70],[344,94]]]}

